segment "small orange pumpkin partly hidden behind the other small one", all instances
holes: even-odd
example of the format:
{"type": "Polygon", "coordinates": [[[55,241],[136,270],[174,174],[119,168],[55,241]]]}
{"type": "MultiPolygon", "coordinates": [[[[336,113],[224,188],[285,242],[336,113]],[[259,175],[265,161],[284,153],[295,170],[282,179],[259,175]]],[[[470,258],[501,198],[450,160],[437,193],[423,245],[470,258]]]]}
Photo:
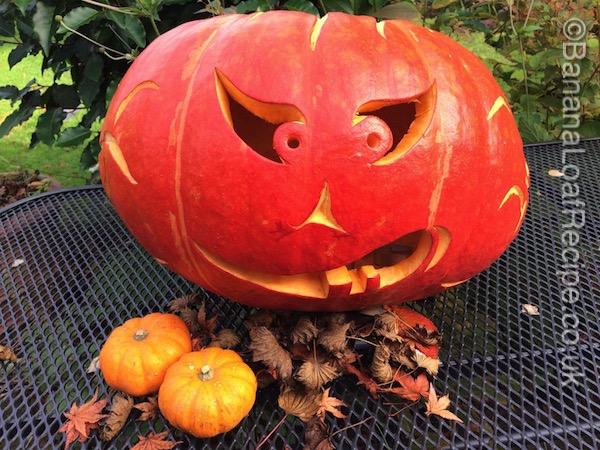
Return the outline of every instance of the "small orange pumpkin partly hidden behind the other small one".
{"type": "Polygon", "coordinates": [[[112,331],[100,350],[100,370],[110,387],[139,397],[158,392],[167,369],[191,351],[181,318],[152,313],[112,331]]]}

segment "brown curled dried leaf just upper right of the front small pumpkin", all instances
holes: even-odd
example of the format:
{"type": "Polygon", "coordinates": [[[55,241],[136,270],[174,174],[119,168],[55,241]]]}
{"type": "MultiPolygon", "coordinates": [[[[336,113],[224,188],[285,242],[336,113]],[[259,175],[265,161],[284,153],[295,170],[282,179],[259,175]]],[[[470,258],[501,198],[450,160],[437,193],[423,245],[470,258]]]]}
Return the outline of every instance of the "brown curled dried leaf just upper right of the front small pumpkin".
{"type": "Polygon", "coordinates": [[[266,327],[250,329],[250,344],[248,349],[252,352],[252,360],[262,362],[269,369],[277,371],[281,380],[289,380],[292,376],[292,358],[290,354],[277,342],[273,333],[266,327]]]}

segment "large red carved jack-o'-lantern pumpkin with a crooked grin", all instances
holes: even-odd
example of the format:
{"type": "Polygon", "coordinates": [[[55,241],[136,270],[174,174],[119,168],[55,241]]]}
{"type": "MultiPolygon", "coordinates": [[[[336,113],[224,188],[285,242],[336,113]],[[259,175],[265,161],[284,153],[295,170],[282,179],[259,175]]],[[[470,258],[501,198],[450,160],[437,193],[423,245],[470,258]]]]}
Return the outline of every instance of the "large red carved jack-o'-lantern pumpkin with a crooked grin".
{"type": "Polygon", "coordinates": [[[405,21],[292,11],[190,22],[119,85],[106,193],[167,268],[232,300],[355,310],[492,264],[529,174],[501,89],[405,21]]]}

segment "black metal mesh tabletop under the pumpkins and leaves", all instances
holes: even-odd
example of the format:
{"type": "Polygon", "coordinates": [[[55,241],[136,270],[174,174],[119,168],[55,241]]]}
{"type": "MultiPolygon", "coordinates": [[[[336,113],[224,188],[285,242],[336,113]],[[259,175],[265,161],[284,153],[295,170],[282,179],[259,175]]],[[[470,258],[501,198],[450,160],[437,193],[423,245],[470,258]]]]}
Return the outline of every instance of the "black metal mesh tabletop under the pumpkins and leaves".
{"type": "MultiPolygon", "coordinates": [[[[390,417],[384,400],[342,377],[332,395],[350,414],[332,421],[332,431],[374,420],[336,434],[336,448],[600,448],[600,140],[577,148],[584,151],[527,147],[531,204],[517,239],[468,283],[415,303],[444,334],[435,384],[451,394],[465,423],[415,408],[390,417]],[[565,176],[552,177],[550,169],[565,176]],[[578,192],[563,197],[569,179],[578,192]],[[569,212],[575,209],[585,216],[569,212]],[[569,227],[572,219],[581,227],[569,227]],[[565,241],[567,229],[577,242],[565,241]],[[521,312],[522,304],[540,315],[521,312]]],[[[0,345],[20,358],[0,363],[0,448],[61,448],[63,412],[98,386],[107,394],[101,375],[85,369],[108,333],[198,287],[155,263],[98,187],[18,202],[0,211],[0,222],[0,345]]],[[[204,295],[223,326],[244,332],[249,308],[204,295]]],[[[266,388],[233,431],[193,440],[170,429],[170,437],[183,441],[182,449],[254,448],[283,415],[276,388],[266,388]]],[[[112,442],[94,434],[85,448],[125,449],[138,433],[167,429],[160,417],[131,417],[112,442]]],[[[263,448],[302,448],[303,433],[303,423],[289,419],[263,448]]]]}

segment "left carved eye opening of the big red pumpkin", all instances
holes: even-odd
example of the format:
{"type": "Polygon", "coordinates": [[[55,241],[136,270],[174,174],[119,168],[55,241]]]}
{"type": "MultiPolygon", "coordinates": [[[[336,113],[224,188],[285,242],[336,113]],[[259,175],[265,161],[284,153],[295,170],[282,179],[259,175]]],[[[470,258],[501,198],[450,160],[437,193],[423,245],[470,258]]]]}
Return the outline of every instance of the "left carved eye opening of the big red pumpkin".
{"type": "MultiPolygon", "coordinates": [[[[304,115],[300,110],[290,104],[267,103],[249,97],[218,69],[215,69],[215,83],[221,111],[240,139],[261,156],[283,163],[281,156],[273,148],[273,137],[282,123],[304,124],[304,115]]],[[[289,134],[285,145],[289,149],[298,148],[299,133],[289,134]]]]}

